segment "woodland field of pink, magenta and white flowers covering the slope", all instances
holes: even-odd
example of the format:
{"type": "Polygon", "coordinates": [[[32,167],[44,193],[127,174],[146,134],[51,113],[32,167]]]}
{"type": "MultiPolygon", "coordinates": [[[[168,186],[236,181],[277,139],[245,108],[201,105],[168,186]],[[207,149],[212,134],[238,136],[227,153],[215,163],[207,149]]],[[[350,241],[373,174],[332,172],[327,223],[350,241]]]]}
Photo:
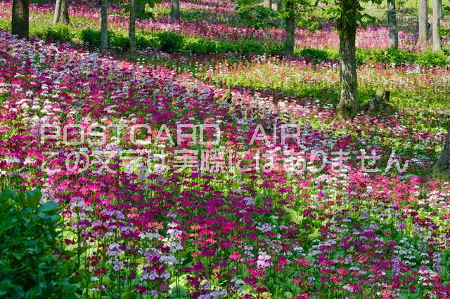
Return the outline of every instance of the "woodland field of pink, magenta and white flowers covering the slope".
{"type": "MultiPolygon", "coordinates": [[[[181,4],[209,17],[174,22],[164,2],[139,30],[247,34],[229,1],[181,4]]],[[[31,22],[53,8],[32,4],[31,22]]],[[[94,5],[70,15],[100,26],[94,5]]],[[[333,30],[297,29],[296,46],[336,47],[333,30]]],[[[415,36],[400,41],[413,49],[415,36]]],[[[356,44],[386,47],[387,27],[359,29],[356,44]]],[[[1,31],[0,66],[1,190],[58,204],[58,258],[77,285],[24,298],[450,298],[450,183],[430,176],[448,67],[360,65],[363,109],[334,121],[337,62],[150,50],[130,61],[1,31]],[[379,89],[391,105],[373,114],[379,89]],[[294,123],[300,142],[280,138],[294,123]]]]}

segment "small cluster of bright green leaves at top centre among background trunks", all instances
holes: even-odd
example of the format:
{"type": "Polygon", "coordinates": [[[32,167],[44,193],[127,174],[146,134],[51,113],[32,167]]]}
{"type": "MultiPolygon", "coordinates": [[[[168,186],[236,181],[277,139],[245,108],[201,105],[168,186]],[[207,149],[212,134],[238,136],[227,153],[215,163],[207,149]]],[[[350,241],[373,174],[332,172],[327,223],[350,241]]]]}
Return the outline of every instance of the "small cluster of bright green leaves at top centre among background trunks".
{"type": "Polygon", "coordinates": [[[238,0],[236,14],[245,27],[252,29],[250,37],[256,30],[276,26],[277,14],[270,8],[261,5],[260,0],[238,0]]]}

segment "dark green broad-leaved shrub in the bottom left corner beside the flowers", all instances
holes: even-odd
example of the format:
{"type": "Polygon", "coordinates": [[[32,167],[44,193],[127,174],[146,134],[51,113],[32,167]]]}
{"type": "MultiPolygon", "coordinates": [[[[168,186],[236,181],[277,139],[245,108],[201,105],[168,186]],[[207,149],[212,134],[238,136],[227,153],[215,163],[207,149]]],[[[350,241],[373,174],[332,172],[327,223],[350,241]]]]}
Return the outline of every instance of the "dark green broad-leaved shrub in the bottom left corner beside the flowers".
{"type": "Polygon", "coordinates": [[[5,190],[0,194],[0,296],[75,298],[76,284],[56,239],[59,209],[39,204],[41,192],[5,190]]]}

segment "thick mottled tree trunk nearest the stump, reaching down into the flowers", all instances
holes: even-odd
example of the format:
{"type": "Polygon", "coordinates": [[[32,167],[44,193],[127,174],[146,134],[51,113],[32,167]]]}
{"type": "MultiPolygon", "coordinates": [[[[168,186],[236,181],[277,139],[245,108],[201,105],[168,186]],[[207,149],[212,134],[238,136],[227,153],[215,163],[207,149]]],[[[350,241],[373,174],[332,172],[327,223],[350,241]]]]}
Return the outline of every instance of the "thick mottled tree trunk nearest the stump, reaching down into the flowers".
{"type": "Polygon", "coordinates": [[[336,119],[351,119],[356,112],[358,88],[355,58],[358,0],[342,0],[340,6],[341,15],[338,20],[340,101],[336,119]]]}

